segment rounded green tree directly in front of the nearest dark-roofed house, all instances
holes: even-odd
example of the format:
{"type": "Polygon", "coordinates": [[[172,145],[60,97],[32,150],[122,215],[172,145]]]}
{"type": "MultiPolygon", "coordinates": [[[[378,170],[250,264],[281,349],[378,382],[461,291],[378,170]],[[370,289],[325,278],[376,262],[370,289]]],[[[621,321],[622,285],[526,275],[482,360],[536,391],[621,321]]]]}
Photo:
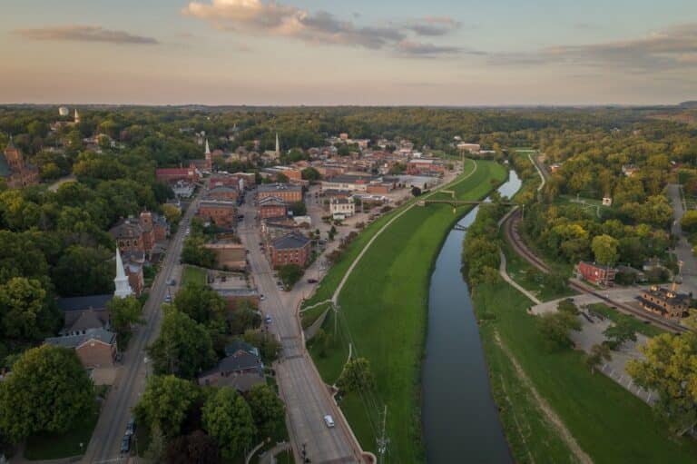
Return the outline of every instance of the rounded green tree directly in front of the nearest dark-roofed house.
{"type": "Polygon", "coordinates": [[[203,404],[203,427],[218,441],[223,459],[241,456],[257,431],[250,406],[229,387],[217,390],[203,404]]]}

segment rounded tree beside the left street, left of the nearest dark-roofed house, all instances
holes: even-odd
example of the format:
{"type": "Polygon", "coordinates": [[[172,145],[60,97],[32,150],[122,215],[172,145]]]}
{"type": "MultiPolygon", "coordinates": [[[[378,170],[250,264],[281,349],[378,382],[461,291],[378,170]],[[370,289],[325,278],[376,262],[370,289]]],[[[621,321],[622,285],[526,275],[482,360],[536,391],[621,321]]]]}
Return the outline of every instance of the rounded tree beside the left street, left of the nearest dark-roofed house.
{"type": "Polygon", "coordinates": [[[168,437],[175,437],[189,410],[200,398],[201,390],[189,380],[173,375],[152,375],[135,406],[135,417],[151,431],[159,429],[168,437]]]}

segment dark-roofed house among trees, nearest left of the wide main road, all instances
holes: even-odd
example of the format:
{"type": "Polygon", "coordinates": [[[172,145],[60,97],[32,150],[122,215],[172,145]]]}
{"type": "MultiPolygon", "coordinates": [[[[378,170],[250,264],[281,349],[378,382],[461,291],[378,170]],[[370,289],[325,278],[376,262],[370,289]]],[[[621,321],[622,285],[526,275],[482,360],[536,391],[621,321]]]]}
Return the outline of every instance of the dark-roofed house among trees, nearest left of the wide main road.
{"type": "Polygon", "coordinates": [[[244,349],[226,356],[216,367],[199,375],[199,385],[231,387],[242,392],[265,382],[264,365],[260,357],[244,349]]]}

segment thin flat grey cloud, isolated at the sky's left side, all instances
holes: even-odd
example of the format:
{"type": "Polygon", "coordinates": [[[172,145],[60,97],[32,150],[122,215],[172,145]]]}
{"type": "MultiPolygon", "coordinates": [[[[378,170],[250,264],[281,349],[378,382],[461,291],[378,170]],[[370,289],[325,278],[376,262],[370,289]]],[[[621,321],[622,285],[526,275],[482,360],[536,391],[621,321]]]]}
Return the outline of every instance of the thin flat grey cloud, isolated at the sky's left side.
{"type": "Polygon", "coordinates": [[[15,34],[31,40],[108,42],[112,44],[158,44],[152,37],[111,31],[98,25],[57,25],[34,29],[17,29],[15,34]]]}

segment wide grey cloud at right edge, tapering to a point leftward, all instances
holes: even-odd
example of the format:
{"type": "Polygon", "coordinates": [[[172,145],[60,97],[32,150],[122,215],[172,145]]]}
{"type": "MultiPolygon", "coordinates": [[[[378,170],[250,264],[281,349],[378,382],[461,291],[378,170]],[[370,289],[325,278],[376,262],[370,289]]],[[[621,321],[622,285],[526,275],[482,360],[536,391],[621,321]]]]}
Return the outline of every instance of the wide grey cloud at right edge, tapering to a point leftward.
{"type": "Polygon", "coordinates": [[[653,73],[697,64],[697,23],[624,41],[559,45],[535,53],[492,55],[495,64],[584,64],[653,73]]]}

